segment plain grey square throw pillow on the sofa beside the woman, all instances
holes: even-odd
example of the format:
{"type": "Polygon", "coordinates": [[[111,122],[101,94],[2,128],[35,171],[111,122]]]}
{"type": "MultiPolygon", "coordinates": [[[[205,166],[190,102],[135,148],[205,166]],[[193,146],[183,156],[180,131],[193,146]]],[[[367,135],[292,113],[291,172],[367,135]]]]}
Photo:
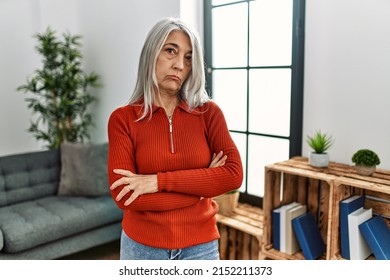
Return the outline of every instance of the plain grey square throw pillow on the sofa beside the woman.
{"type": "Polygon", "coordinates": [[[107,154],[107,143],[63,143],[58,195],[108,195],[107,154]]]}

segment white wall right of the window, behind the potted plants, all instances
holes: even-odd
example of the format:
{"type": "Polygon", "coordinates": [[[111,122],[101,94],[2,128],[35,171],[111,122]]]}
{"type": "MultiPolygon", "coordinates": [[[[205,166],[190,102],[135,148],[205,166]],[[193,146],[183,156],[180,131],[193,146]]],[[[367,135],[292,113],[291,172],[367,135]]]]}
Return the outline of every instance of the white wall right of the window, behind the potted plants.
{"type": "Polygon", "coordinates": [[[390,169],[389,35],[388,0],[306,1],[303,135],[332,134],[331,160],[369,148],[390,169]]]}

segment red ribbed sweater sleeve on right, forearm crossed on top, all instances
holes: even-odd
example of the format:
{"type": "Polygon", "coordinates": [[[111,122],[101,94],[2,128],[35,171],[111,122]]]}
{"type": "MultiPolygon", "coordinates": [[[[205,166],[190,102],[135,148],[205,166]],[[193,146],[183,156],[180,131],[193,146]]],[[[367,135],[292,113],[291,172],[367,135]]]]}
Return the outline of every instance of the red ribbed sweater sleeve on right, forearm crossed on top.
{"type": "Polygon", "coordinates": [[[160,172],[157,174],[161,191],[215,197],[240,188],[243,169],[239,151],[231,138],[221,109],[213,102],[204,116],[207,141],[212,152],[227,155],[224,166],[160,172]]]}

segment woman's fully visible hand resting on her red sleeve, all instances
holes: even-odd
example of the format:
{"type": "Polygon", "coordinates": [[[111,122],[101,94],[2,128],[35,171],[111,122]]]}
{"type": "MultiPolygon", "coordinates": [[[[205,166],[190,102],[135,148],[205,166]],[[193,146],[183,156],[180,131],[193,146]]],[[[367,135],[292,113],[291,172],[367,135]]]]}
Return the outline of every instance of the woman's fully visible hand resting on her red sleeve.
{"type": "Polygon", "coordinates": [[[122,178],[116,180],[111,186],[110,190],[115,190],[119,186],[126,185],[117,195],[116,200],[121,200],[130,191],[133,193],[125,201],[124,205],[130,205],[138,196],[147,193],[155,193],[158,191],[157,175],[137,175],[129,170],[114,169],[115,174],[123,175],[122,178]]]}

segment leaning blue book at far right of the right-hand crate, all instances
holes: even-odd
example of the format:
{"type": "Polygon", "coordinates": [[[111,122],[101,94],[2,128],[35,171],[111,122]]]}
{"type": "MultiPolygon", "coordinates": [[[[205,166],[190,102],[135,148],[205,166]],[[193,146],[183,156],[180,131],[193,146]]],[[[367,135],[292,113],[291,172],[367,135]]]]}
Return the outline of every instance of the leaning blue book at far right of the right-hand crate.
{"type": "Polygon", "coordinates": [[[359,230],[377,260],[390,260],[390,229],[381,215],[361,223],[359,230]]]}

